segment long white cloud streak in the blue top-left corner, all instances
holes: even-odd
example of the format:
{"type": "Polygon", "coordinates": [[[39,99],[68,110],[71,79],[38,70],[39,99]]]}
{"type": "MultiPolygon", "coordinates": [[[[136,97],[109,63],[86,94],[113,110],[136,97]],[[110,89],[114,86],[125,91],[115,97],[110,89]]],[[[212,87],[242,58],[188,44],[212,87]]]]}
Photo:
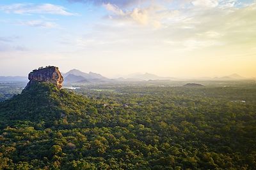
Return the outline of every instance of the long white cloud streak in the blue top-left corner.
{"type": "Polygon", "coordinates": [[[54,4],[31,4],[31,3],[20,3],[10,5],[0,5],[0,10],[6,13],[17,13],[17,14],[54,14],[54,15],[76,15],[70,13],[66,8],[54,4]]]}

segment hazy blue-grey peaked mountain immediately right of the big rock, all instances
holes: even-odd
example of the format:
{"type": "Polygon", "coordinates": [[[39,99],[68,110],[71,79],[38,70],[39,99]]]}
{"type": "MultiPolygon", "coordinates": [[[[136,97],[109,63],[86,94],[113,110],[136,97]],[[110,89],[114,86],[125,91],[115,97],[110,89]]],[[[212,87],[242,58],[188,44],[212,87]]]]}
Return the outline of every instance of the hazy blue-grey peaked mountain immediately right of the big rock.
{"type": "Polygon", "coordinates": [[[72,69],[67,73],[63,74],[64,82],[66,83],[102,83],[111,81],[108,78],[98,73],[84,73],[78,69],[72,69]]]}

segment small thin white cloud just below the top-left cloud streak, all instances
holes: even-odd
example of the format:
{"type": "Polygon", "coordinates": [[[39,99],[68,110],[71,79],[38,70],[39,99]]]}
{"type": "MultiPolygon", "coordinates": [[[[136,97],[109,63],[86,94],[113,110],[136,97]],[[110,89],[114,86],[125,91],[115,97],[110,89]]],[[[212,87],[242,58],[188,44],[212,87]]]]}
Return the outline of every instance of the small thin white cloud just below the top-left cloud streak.
{"type": "Polygon", "coordinates": [[[54,22],[45,22],[44,20],[28,20],[28,21],[19,21],[17,25],[27,25],[30,27],[42,27],[42,28],[56,28],[58,25],[54,22]]]}

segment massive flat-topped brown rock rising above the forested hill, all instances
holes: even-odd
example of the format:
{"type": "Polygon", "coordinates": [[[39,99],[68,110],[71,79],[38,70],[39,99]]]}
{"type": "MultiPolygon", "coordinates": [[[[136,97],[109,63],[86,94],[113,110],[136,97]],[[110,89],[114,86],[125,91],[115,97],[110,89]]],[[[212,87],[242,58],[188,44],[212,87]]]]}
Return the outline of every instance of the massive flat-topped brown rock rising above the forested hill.
{"type": "Polygon", "coordinates": [[[40,67],[39,69],[34,69],[28,75],[28,85],[25,87],[25,90],[29,89],[33,83],[36,82],[45,82],[45,83],[52,83],[56,85],[58,89],[61,89],[63,83],[63,76],[58,69],[58,67],[54,66],[47,66],[47,67],[40,67]]]}

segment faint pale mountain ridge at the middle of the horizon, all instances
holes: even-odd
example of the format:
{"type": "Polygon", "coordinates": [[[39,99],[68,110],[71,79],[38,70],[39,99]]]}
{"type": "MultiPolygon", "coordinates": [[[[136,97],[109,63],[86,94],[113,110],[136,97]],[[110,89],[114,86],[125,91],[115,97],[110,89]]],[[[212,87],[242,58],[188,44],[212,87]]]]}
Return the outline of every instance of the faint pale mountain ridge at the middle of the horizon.
{"type": "Polygon", "coordinates": [[[134,80],[176,80],[175,78],[162,77],[162,76],[157,76],[156,74],[150,74],[150,73],[129,74],[125,78],[134,79],[134,80]]]}

